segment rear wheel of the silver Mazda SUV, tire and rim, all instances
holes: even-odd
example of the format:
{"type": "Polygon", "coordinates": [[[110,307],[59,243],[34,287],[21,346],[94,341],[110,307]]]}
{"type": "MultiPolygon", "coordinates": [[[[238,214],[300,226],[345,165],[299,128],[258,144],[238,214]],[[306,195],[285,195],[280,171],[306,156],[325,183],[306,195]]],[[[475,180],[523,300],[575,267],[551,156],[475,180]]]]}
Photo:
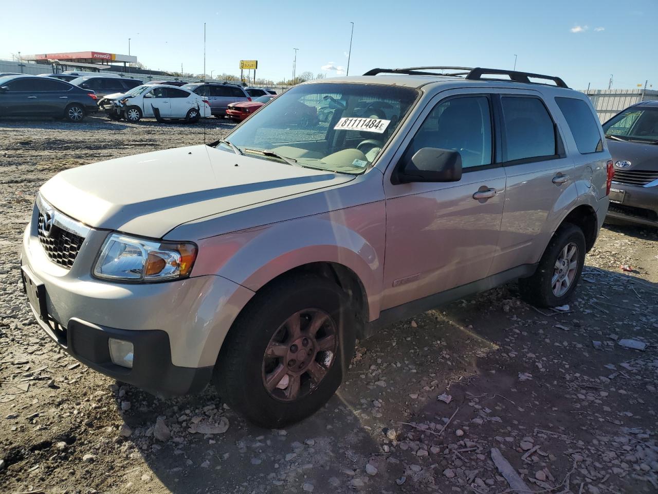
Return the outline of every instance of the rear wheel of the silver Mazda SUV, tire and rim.
{"type": "Polygon", "coordinates": [[[585,249],[582,230],[571,223],[561,225],[546,247],[534,275],[519,280],[521,298],[538,307],[556,307],[569,302],[580,280],[585,249]],[[572,248],[576,249],[574,254],[572,248]]]}

